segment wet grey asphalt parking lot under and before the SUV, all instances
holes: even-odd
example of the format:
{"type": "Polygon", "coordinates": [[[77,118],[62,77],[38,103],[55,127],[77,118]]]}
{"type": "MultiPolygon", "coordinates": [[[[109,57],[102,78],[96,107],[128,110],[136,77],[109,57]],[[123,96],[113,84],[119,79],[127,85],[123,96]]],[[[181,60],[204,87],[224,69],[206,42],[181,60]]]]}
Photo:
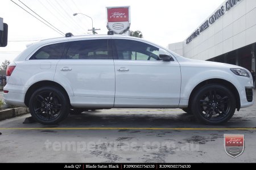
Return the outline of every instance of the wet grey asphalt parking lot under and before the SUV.
{"type": "Polygon", "coordinates": [[[22,124],[26,114],[0,121],[0,162],[255,163],[255,114],[256,104],[219,126],[202,125],[181,109],[88,111],[53,126],[22,124]],[[226,154],[224,134],[245,135],[242,155],[226,154]]]}

